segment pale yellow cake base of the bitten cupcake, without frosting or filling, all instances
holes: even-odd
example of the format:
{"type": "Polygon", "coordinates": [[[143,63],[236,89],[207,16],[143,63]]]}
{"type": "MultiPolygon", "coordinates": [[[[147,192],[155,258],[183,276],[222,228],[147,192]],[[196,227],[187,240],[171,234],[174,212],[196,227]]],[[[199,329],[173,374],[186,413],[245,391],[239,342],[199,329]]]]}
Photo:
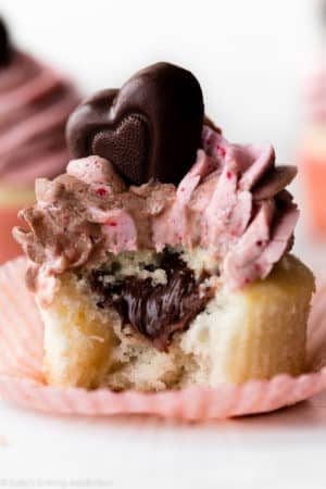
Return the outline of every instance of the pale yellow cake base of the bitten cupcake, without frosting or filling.
{"type": "MultiPolygon", "coordinates": [[[[188,263],[193,264],[189,255],[188,263]]],[[[114,256],[114,264],[133,274],[147,272],[139,271],[145,263],[143,253],[129,252],[127,256],[128,260],[126,253],[114,256]]],[[[158,267],[152,274],[156,277],[163,272],[158,267]]],[[[103,276],[100,278],[102,285],[103,276]]],[[[121,280],[120,275],[104,278],[111,283],[114,278],[121,280]]],[[[172,280],[172,286],[176,289],[179,284],[172,280]]],[[[117,294],[116,287],[113,285],[112,294],[117,294]]],[[[145,285],[139,280],[138,288],[141,287],[145,285]]],[[[158,391],[193,385],[214,388],[222,383],[242,384],[279,373],[304,372],[314,278],[299,260],[285,256],[266,279],[243,290],[215,287],[214,297],[196,313],[186,330],[173,335],[162,351],[130,324],[124,326],[116,309],[100,303],[80,271],[64,274],[53,302],[40,305],[47,379],[57,387],[158,391]]],[[[168,299],[165,294],[162,301],[168,299]]],[[[153,309],[155,304],[147,306],[153,309]]],[[[131,308],[135,311],[145,305],[135,301],[131,308]]],[[[163,314],[161,309],[160,316],[163,314]]]]}

